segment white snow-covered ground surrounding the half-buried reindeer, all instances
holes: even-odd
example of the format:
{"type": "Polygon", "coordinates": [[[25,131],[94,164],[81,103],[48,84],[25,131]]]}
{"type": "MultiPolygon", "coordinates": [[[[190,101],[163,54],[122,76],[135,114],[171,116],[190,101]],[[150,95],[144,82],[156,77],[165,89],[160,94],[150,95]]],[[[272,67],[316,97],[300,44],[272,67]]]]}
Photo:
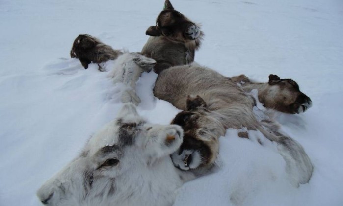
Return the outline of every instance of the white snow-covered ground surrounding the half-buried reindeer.
{"type": "MultiPolygon", "coordinates": [[[[273,147],[220,139],[219,169],[186,183],[176,206],[343,205],[343,1],[172,0],[203,24],[195,60],[223,75],[292,78],[313,107],[278,116],[315,166],[308,184],[291,186],[273,147]]],[[[82,33],[139,52],[163,0],[0,1],[0,205],[38,206],[36,190],[75,157],[120,107],[105,72],[84,70],[69,51],[82,33]]],[[[168,124],[178,110],[156,100],[153,73],[138,82],[139,112],[168,124]]]]}

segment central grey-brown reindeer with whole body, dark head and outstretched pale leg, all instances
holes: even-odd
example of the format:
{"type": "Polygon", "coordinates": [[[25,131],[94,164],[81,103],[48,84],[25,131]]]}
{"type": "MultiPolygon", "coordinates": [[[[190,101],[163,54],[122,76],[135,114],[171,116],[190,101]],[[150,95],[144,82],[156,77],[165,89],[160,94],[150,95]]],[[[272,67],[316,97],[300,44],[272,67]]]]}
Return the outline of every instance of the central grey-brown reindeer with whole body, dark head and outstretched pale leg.
{"type": "Polygon", "coordinates": [[[310,180],[313,166],[303,147],[282,134],[269,116],[258,117],[253,111],[256,100],[231,78],[195,64],[176,66],[158,75],[154,95],[184,110],[172,121],[184,129],[184,142],[171,155],[180,169],[206,173],[217,157],[218,138],[233,128],[241,130],[241,137],[256,130],[276,142],[294,186],[310,180]]]}

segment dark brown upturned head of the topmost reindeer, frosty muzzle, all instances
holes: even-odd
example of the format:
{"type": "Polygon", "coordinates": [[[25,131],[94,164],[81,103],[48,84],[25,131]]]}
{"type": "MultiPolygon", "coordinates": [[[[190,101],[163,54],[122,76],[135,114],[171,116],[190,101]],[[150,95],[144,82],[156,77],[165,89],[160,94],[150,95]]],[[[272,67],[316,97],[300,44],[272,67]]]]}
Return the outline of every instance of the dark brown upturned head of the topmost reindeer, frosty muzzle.
{"type": "Polygon", "coordinates": [[[163,11],[157,17],[156,26],[150,26],[145,34],[165,36],[171,41],[182,43],[196,40],[204,35],[199,26],[174,10],[169,0],[164,2],[163,11]]]}

